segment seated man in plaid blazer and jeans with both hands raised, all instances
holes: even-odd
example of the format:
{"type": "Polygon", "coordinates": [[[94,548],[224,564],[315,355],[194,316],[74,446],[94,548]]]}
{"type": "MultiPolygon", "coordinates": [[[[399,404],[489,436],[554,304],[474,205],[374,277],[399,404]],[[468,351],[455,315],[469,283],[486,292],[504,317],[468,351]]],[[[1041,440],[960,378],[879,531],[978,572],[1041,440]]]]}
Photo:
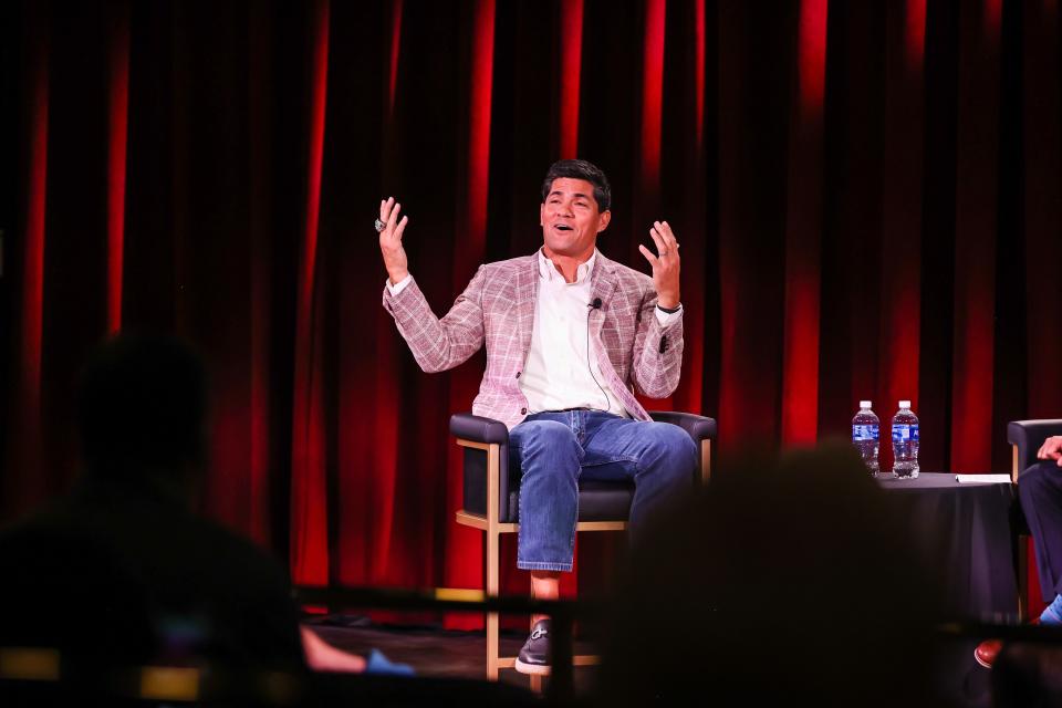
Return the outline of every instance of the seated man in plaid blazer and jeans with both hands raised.
{"type": "MultiPolygon", "coordinates": [[[[683,360],[678,242],[667,221],[639,249],[653,277],[605,258],[597,238],[612,218],[608,180],[585,160],[554,164],[542,184],[542,248],[480,266],[441,319],[408,271],[408,217],[381,201],[384,308],[426,372],[452,368],[487,346],[476,415],[509,427],[520,466],[517,565],[534,597],[558,597],[572,570],[579,480],[633,480],[631,529],[689,489],[697,449],[679,427],[653,423],[632,393],[663,398],[683,360]]],[[[549,673],[550,621],[534,617],[517,669],[549,673]]]]}

